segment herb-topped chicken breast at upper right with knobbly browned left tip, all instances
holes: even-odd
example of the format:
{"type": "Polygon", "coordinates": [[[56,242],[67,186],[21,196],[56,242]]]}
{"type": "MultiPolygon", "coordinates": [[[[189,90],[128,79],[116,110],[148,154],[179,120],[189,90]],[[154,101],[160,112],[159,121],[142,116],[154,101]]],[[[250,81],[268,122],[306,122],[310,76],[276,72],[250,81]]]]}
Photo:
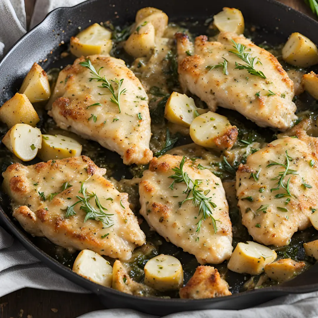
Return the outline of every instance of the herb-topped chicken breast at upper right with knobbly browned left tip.
{"type": "Polygon", "coordinates": [[[181,86],[212,111],[234,109],[260,127],[280,130],[297,119],[293,81],[271,53],[231,32],[221,32],[217,42],[199,36],[194,46],[185,34],[176,38],[181,86]]]}

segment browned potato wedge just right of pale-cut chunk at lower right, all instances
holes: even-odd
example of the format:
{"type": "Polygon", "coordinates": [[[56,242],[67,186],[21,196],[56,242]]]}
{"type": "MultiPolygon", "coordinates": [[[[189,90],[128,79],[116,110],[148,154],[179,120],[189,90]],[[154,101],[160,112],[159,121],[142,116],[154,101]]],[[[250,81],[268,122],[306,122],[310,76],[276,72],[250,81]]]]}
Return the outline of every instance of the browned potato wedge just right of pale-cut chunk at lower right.
{"type": "Polygon", "coordinates": [[[266,264],[265,273],[272,280],[283,282],[300,274],[305,266],[305,262],[296,262],[290,258],[280,259],[277,262],[266,264]]]}

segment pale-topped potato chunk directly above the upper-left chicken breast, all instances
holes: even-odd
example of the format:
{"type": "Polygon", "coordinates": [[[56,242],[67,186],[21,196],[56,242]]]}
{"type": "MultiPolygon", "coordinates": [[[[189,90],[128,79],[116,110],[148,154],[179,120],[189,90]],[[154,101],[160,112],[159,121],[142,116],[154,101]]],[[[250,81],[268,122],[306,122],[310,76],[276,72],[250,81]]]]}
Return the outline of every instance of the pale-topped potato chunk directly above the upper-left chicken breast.
{"type": "Polygon", "coordinates": [[[82,55],[107,55],[113,47],[111,38],[111,31],[108,31],[98,23],[94,23],[79,32],[76,37],[71,38],[71,53],[78,58],[82,55]]]}

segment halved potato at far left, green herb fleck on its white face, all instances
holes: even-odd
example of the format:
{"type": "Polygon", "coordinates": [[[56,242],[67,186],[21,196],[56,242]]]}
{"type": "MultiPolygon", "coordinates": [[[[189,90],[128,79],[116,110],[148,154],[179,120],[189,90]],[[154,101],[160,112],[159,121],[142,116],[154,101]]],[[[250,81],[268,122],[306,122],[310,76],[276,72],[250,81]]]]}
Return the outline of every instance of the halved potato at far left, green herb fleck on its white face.
{"type": "Polygon", "coordinates": [[[32,160],[41,148],[40,129],[26,124],[16,124],[3,137],[3,144],[23,161],[32,160]]]}

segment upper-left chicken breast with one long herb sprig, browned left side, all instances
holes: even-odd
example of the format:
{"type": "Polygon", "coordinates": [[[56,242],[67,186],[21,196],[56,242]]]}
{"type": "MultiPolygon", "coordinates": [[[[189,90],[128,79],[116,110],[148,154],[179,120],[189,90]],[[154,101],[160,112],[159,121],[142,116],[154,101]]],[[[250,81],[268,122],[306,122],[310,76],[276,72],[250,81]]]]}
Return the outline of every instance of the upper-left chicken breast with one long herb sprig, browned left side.
{"type": "Polygon", "coordinates": [[[51,102],[60,128],[116,151],[125,164],[151,160],[148,97],[121,59],[76,59],[59,73],[51,102]]]}

